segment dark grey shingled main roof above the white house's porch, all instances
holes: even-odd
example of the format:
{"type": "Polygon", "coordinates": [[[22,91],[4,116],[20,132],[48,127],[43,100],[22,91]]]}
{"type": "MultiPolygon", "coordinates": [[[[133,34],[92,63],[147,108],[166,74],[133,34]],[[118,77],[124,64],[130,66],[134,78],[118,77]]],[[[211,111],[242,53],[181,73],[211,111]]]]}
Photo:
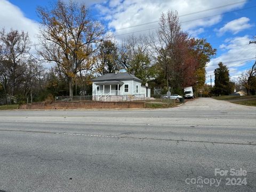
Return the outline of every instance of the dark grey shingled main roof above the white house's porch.
{"type": "Polygon", "coordinates": [[[108,73],[99,77],[92,79],[92,82],[101,82],[101,81],[122,81],[122,80],[135,80],[141,82],[141,79],[135,77],[134,75],[124,72],[124,73],[108,73]]]}

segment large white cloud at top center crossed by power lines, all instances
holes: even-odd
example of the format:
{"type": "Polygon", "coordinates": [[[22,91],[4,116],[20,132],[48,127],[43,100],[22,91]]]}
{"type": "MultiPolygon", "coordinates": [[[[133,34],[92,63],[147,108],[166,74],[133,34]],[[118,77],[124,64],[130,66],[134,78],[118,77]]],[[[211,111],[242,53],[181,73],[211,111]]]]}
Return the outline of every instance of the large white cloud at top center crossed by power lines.
{"type": "MultiPolygon", "coordinates": [[[[222,19],[221,15],[223,12],[238,9],[243,7],[246,2],[240,4],[234,4],[231,6],[222,7],[221,9],[212,9],[205,12],[200,12],[196,14],[185,15],[187,13],[198,12],[200,10],[207,10],[213,7],[218,7],[220,5],[226,5],[234,3],[233,0],[227,0],[223,3],[222,0],[215,1],[204,1],[204,0],[124,0],[122,3],[118,4],[119,1],[111,0],[109,3],[101,4],[99,11],[102,10],[104,6],[108,11],[103,10],[102,18],[106,17],[106,13],[111,15],[111,20],[109,21],[109,28],[117,29],[116,35],[133,33],[133,31],[140,31],[150,28],[158,27],[158,20],[161,13],[166,13],[168,10],[177,10],[180,17],[181,25],[183,30],[197,30],[197,28],[205,28],[219,23],[222,19]],[[182,16],[183,15],[183,16],[182,16]],[[209,17],[210,15],[216,15],[214,17],[209,17]],[[199,19],[203,18],[203,19],[199,19]],[[156,22],[154,22],[156,21],[156,22]],[[143,23],[154,22],[150,25],[142,25],[137,27],[132,27],[140,25],[143,23]],[[123,29],[126,28],[126,29],[123,29]],[[122,29],[122,30],[118,30],[122,29]]],[[[107,18],[109,19],[109,17],[107,18]]],[[[201,30],[202,30],[201,29],[201,30]]],[[[142,33],[147,33],[143,31],[142,33]]]]}

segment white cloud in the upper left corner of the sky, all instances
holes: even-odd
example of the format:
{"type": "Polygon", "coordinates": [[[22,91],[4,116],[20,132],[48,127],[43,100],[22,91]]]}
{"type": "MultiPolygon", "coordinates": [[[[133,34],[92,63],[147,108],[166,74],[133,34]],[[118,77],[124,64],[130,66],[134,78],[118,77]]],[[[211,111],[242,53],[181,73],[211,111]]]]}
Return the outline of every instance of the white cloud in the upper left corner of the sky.
{"type": "Polygon", "coordinates": [[[19,7],[6,0],[0,1],[0,28],[23,30],[28,32],[30,41],[37,42],[38,23],[26,18],[19,7]]]}

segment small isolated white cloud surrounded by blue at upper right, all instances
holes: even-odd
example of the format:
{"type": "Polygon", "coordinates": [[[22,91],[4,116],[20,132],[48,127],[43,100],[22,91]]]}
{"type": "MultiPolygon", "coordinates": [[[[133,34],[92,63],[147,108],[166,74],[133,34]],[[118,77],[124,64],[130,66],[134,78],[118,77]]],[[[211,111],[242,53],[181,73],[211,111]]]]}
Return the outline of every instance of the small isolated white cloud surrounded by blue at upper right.
{"type": "Polygon", "coordinates": [[[249,29],[252,25],[249,23],[250,19],[246,17],[242,17],[239,19],[235,19],[226,23],[225,26],[221,27],[218,31],[218,35],[221,36],[225,34],[227,31],[230,31],[233,34],[237,34],[242,30],[249,29]]]}

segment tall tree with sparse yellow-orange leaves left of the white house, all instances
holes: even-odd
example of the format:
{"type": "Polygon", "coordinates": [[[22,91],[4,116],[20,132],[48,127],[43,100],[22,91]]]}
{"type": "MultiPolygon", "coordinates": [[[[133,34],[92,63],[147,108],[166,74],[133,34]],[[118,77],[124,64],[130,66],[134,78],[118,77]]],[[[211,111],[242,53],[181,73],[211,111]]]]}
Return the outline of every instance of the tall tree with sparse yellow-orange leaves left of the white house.
{"type": "Polygon", "coordinates": [[[52,10],[37,9],[41,18],[38,50],[46,61],[55,62],[69,82],[73,96],[74,78],[79,71],[90,70],[91,55],[102,41],[103,26],[90,18],[84,4],[57,1],[52,10]]]}

